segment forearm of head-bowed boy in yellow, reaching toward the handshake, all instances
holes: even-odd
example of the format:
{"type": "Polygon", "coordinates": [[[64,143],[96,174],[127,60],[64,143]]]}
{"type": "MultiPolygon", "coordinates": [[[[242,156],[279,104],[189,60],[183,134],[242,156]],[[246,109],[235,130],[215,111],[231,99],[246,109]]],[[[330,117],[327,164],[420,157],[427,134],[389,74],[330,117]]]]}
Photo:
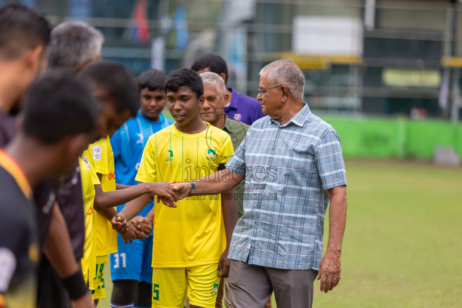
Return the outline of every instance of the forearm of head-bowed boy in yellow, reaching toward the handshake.
{"type": "Polygon", "coordinates": [[[95,185],[95,202],[93,207],[97,211],[103,211],[105,209],[127,203],[148,192],[149,189],[145,185],[134,185],[126,189],[113,190],[109,192],[103,191],[101,185],[95,185]]]}

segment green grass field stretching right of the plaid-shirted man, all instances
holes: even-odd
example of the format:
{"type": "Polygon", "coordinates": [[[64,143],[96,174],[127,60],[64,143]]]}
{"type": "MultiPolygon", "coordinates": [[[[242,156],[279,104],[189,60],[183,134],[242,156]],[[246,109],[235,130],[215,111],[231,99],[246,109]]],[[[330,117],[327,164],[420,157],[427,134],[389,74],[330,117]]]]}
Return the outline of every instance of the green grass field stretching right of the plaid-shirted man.
{"type": "Polygon", "coordinates": [[[462,169],[346,160],[346,172],[342,278],[328,294],[316,281],[313,307],[462,307],[462,169]]]}

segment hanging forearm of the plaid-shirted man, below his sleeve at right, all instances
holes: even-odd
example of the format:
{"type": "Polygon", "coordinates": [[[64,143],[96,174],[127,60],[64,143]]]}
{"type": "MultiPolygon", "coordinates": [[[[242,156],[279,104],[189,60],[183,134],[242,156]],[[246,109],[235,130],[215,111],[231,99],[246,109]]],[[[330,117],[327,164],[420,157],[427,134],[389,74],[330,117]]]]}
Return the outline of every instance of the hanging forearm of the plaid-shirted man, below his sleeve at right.
{"type": "Polygon", "coordinates": [[[329,205],[329,239],[327,251],[341,254],[343,234],[346,225],[346,187],[334,187],[328,196],[329,205]]]}

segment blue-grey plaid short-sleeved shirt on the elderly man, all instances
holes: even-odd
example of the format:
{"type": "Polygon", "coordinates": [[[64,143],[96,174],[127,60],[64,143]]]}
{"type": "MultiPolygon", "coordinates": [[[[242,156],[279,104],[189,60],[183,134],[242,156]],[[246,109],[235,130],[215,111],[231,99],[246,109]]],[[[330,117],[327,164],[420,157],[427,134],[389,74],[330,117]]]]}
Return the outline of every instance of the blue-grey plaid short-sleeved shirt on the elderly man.
{"type": "Polygon", "coordinates": [[[306,103],[290,121],[266,116],[226,163],[245,174],[244,215],[228,258],[281,269],[318,269],[326,189],[346,185],[338,134],[306,103]]]}

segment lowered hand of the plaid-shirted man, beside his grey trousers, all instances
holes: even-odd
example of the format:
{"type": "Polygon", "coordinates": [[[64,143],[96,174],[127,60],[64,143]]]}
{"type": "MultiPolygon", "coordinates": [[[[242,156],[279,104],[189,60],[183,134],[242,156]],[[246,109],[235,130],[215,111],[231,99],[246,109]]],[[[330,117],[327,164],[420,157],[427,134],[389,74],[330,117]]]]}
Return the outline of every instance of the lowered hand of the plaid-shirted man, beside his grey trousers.
{"type": "Polygon", "coordinates": [[[327,251],[319,262],[317,279],[321,279],[321,292],[332,291],[340,281],[340,253],[327,251]]]}

